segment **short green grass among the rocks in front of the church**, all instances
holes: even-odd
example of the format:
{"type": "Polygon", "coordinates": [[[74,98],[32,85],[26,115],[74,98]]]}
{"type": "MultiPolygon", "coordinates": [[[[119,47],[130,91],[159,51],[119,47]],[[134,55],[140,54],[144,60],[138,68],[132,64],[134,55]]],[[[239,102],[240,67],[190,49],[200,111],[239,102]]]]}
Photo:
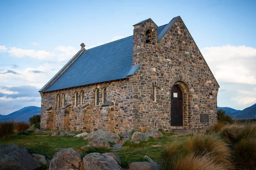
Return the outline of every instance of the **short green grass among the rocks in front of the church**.
{"type": "MultiPolygon", "coordinates": [[[[49,134],[50,132],[40,135],[38,135],[38,133],[32,133],[31,135],[12,136],[1,139],[0,144],[17,144],[19,146],[28,148],[32,153],[44,155],[49,159],[52,159],[52,156],[59,150],[69,147],[79,151],[81,156],[92,152],[113,152],[110,149],[81,149],[80,147],[87,145],[87,141],[80,138],[74,138],[73,136],[59,137],[49,136],[49,134]]],[[[171,142],[182,141],[185,138],[184,136],[168,138],[167,136],[172,136],[174,133],[163,134],[164,137],[161,139],[154,140],[150,138],[149,141],[140,142],[139,144],[129,141],[125,142],[123,145],[123,150],[113,153],[120,156],[123,167],[127,167],[131,162],[134,161],[142,161],[142,157],[145,155],[151,157],[151,159],[154,161],[157,161],[158,164],[161,164],[164,147],[171,142]]]]}

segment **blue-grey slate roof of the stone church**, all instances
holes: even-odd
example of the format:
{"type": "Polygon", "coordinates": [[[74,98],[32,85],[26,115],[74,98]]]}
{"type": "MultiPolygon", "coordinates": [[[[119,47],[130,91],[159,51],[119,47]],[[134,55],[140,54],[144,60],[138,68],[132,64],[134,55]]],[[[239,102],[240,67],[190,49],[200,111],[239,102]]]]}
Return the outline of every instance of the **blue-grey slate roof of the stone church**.
{"type": "MultiPolygon", "coordinates": [[[[157,28],[158,35],[161,34],[167,25],[169,24],[157,28]]],[[[132,54],[133,36],[109,42],[85,51],[82,49],[70,59],[61,71],[44,85],[39,92],[49,92],[99,82],[125,79],[128,76],[132,76],[140,67],[140,65],[135,65],[134,68],[132,67],[132,54]],[[81,55],[52,83],[52,85],[47,87],[80,52],[82,52],[81,55]]]]}

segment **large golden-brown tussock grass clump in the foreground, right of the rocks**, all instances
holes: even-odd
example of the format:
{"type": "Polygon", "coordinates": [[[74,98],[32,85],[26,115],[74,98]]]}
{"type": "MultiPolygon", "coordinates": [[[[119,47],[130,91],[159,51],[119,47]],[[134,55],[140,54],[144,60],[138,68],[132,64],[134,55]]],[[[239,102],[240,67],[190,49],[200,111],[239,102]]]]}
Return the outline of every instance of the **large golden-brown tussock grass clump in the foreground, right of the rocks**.
{"type": "Polygon", "coordinates": [[[183,142],[172,143],[163,151],[164,168],[169,170],[230,169],[230,158],[228,145],[212,135],[188,136],[183,142]]]}

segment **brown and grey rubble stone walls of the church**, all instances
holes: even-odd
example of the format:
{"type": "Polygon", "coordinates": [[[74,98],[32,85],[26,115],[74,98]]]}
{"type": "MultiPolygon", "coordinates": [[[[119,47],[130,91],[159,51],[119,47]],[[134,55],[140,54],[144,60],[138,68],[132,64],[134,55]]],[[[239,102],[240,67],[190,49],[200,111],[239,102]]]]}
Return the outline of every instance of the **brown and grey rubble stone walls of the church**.
{"type": "Polygon", "coordinates": [[[213,77],[185,24],[179,18],[162,39],[150,19],[134,26],[133,65],[137,72],[127,79],[85,85],[77,88],[41,92],[41,128],[92,132],[105,129],[121,133],[139,127],[153,127],[166,132],[172,129],[206,130],[217,122],[218,83],[213,77]],[[151,30],[146,43],[146,31],[151,30]],[[177,85],[182,91],[183,125],[171,126],[171,90],[177,85]],[[157,86],[156,101],[152,87],[157,86]],[[99,89],[99,105],[95,89],[99,89]],[[102,107],[102,89],[107,101],[102,107]],[[81,104],[81,91],[84,92],[81,104]],[[75,106],[75,92],[78,106],[75,106]],[[57,108],[57,95],[61,107],[57,108]],[[65,94],[64,105],[62,95],[65,94]],[[200,116],[209,121],[202,122],[200,116]]]}

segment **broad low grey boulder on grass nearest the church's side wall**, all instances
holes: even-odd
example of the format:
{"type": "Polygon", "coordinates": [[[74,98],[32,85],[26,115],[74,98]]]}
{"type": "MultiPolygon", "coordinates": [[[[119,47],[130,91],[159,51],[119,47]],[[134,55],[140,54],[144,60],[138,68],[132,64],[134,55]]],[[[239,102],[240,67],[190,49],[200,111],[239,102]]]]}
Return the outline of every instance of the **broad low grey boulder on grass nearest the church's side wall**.
{"type": "Polygon", "coordinates": [[[107,132],[107,131],[100,129],[100,130],[96,130],[95,132],[87,135],[84,138],[84,140],[92,140],[92,141],[104,140],[104,141],[108,141],[108,142],[119,143],[120,136],[116,133],[111,133],[111,132],[107,132]]]}

